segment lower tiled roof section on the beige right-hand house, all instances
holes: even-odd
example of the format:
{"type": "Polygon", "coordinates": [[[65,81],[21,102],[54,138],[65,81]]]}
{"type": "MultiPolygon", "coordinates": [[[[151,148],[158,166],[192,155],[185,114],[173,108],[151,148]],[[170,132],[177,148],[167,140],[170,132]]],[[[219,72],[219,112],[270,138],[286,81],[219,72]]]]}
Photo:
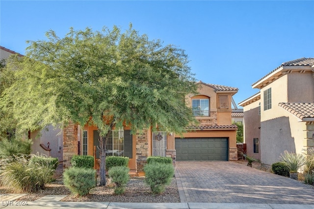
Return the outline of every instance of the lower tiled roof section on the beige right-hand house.
{"type": "Polygon", "coordinates": [[[278,105],[301,120],[314,118],[314,103],[279,103],[278,105]]]}

